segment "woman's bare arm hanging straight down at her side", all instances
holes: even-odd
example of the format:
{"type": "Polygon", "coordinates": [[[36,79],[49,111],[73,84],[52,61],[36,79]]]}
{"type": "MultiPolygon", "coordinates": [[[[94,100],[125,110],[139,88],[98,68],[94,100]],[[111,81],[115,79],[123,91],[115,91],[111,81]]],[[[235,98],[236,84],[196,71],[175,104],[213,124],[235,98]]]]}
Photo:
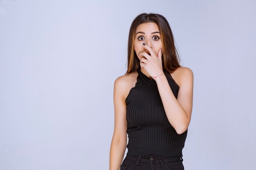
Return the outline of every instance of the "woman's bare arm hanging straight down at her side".
{"type": "Polygon", "coordinates": [[[114,83],[115,128],[110,146],[110,170],[119,170],[126,150],[127,121],[124,99],[126,84],[124,76],[118,77],[114,83]]]}

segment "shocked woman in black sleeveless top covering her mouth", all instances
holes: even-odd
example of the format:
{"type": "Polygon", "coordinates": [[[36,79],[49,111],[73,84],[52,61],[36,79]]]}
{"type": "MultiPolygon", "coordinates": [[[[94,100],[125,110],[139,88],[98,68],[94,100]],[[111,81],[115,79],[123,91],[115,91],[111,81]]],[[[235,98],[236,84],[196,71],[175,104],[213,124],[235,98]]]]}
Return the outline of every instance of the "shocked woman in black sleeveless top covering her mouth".
{"type": "Polygon", "coordinates": [[[141,13],[133,20],[128,70],[114,84],[110,170],[184,170],[182,149],[191,120],[193,72],[180,66],[178,58],[164,16],[141,13]]]}

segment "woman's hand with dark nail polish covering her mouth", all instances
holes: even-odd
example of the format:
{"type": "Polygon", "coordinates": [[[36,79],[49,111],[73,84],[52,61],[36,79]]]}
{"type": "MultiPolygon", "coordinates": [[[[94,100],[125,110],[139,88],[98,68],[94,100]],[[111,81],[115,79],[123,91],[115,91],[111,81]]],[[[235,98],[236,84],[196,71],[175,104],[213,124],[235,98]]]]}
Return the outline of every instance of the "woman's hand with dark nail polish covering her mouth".
{"type": "Polygon", "coordinates": [[[146,52],[139,53],[139,55],[146,57],[146,59],[141,58],[140,66],[141,68],[145,68],[146,72],[155,79],[156,76],[164,73],[162,68],[162,49],[156,55],[150,46],[144,43],[143,45],[149,51],[150,55],[146,52]]]}

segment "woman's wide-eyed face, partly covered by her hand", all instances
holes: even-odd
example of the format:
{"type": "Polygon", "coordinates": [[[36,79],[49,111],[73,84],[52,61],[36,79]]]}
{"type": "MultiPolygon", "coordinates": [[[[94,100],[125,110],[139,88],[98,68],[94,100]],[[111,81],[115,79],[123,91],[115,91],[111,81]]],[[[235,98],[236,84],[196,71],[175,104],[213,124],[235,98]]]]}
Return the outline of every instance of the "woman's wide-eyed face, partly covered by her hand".
{"type": "MultiPolygon", "coordinates": [[[[143,23],[137,26],[135,31],[135,40],[134,40],[134,49],[138,56],[141,52],[147,52],[148,50],[144,48],[143,43],[150,46],[155,55],[157,55],[158,51],[162,49],[162,41],[160,40],[160,31],[155,22],[143,23]]],[[[141,58],[145,58],[144,56],[139,55],[139,60],[141,58]]]]}

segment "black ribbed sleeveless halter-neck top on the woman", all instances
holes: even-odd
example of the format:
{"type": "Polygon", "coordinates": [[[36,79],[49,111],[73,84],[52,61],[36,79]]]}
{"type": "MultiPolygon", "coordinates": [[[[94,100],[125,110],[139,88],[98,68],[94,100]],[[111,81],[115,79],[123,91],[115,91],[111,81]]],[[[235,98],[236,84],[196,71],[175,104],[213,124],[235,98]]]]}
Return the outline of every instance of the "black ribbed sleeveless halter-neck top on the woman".
{"type": "MultiPolygon", "coordinates": [[[[137,82],[130,89],[126,102],[128,152],[126,155],[159,155],[183,157],[187,130],[177,134],[164,111],[157,83],[137,70],[137,82]]],[[[177,99],[179,86],[164,75],[177,99]]]]}

